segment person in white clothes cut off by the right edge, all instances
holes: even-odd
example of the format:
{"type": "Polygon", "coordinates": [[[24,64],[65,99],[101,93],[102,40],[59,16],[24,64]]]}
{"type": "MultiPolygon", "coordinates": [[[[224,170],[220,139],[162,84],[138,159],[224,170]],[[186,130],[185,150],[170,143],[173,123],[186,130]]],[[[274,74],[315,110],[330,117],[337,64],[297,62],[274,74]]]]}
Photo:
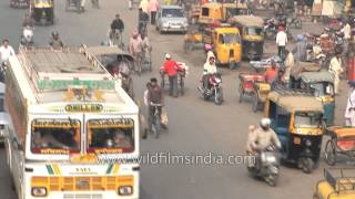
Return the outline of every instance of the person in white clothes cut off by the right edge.
{"type": "Polygon", "coordinates": [[[345,126],[355,127],[355,82],[349,82],[348,85],[351,91],[345,109],[345,126]]]}

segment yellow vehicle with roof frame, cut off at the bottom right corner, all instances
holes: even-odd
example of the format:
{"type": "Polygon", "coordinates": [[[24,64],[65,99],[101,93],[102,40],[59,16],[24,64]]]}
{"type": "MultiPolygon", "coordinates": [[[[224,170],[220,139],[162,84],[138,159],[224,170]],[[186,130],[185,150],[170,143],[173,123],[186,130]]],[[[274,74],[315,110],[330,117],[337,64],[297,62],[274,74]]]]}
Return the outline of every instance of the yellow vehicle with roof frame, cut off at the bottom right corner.
{"type": "Polygon", "coordinates": [[[355,198],[355,169],[324,169],[324,179],[316,185],[313,199],[353,199],[355,198]]]}

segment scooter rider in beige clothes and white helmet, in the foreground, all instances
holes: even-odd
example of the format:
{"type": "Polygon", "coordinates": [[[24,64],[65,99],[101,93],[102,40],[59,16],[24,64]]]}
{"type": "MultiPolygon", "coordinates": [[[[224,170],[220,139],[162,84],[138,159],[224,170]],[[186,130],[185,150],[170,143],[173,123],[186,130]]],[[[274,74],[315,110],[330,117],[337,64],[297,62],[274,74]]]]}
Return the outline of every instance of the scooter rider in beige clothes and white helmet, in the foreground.
{"type": "Polygon", "coordinates": [[[270,118],[262,118],[260,122],[260,127],[253,130],[251,137],[248,138],[250,147],[252,148],[253,153],[256,155],[256,170],[261,167],[261,158],[258,153],[266,150],[270,146],[275,146],[276,148],[281,148],[281,142],[276,135],[276,133],[270,127],[271,119],[270,118]]]}

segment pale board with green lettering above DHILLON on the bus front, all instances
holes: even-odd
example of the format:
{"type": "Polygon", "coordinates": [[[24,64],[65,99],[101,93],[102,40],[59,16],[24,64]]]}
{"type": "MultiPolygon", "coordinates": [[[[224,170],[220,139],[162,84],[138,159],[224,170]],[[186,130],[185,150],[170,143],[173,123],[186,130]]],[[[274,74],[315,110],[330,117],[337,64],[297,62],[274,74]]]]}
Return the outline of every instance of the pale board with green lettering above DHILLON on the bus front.
{"type": "Polygon", "coordinates": [[[70,86],[84,86],[88,90],[114,90],[114,81],[111,80],[40,80],[40,90],[68,90],[70,86]]]}

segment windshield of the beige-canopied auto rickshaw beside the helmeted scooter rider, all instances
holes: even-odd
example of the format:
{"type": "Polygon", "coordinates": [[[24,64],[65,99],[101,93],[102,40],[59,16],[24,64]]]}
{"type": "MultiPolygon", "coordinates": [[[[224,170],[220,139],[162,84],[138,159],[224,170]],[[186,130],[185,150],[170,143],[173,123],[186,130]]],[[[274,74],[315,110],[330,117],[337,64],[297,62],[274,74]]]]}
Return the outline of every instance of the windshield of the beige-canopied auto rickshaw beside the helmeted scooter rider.
{"type": "Polygon", "coordinates": [[[295,114],[296,128],[318,128],[322,125],[322,114],[315,112],[297,112],[295,114]]]}

